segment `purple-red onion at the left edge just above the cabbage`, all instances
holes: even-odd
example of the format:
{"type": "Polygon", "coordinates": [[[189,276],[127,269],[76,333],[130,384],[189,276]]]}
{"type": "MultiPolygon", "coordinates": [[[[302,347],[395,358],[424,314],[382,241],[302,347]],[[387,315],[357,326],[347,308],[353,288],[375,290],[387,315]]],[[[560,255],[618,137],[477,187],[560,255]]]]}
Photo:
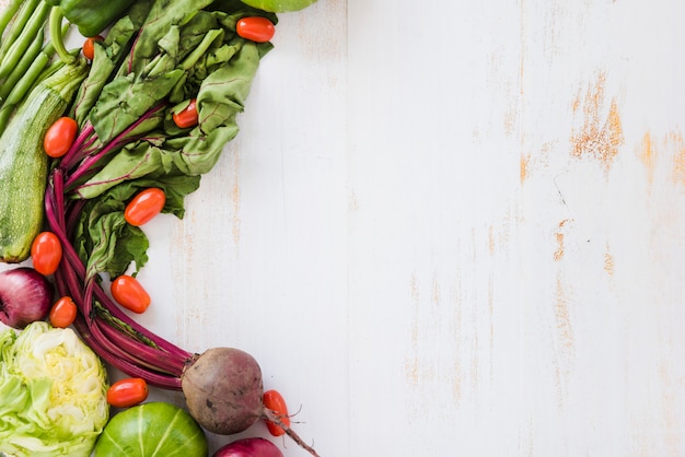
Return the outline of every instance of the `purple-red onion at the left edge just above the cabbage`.
{"type": "Polygon", "coordinates": [[[33,268],[0,272],[0,321],[21,330],[35,320],[44,320],[54,294],[53,284],[33,268]]]}

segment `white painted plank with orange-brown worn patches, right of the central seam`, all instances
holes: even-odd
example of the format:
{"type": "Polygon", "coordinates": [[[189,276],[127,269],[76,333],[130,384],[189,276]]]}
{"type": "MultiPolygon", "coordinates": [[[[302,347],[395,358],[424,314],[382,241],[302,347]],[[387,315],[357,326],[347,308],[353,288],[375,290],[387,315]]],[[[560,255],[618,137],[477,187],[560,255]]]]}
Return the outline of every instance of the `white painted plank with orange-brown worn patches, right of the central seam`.
{"type": "Polygon", "coordinates": [[[350,2],[378,31],[349,36],[353,455],[683,453],[682,191],[649,198],[643,149],[665,130],[680,166],[683,8],[658,3],[350,2]]]}

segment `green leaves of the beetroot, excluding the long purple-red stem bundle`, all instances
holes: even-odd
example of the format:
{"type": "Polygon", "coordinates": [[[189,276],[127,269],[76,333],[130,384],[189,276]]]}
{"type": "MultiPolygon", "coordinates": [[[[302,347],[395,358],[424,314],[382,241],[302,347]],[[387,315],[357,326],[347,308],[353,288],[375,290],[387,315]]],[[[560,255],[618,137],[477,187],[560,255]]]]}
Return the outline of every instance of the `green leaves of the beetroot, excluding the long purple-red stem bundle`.
{"type": "MultiPolygon", "coordinates": [[[[148,239],[125,222],[137,191],[159,187],[164,212],[184,214],[184,197],[219,160],[239,132],[236,117],[270,43],[237,36],[245,15],[272,13],[240,0],[147,0],[149,14],[119,21],[120,38],[104,42],[77,103],[97,148],[114,144],[103,162],[82,175],[70,198],[88,200],[76,227],[76,247],[89,278],[116,277],[147,262],[148,239]],[[139,32],[137,32],[139,31],[139,32]],[[96,68],[96,67],[101,68],[96,68]],[[95,98],[94,94],[98,94],[95,98]],[[172,114],[197,99],[199,124],[181,129],[172,114]]],[[[112,35],[112,32],[111,32],[112,35]]]]}

